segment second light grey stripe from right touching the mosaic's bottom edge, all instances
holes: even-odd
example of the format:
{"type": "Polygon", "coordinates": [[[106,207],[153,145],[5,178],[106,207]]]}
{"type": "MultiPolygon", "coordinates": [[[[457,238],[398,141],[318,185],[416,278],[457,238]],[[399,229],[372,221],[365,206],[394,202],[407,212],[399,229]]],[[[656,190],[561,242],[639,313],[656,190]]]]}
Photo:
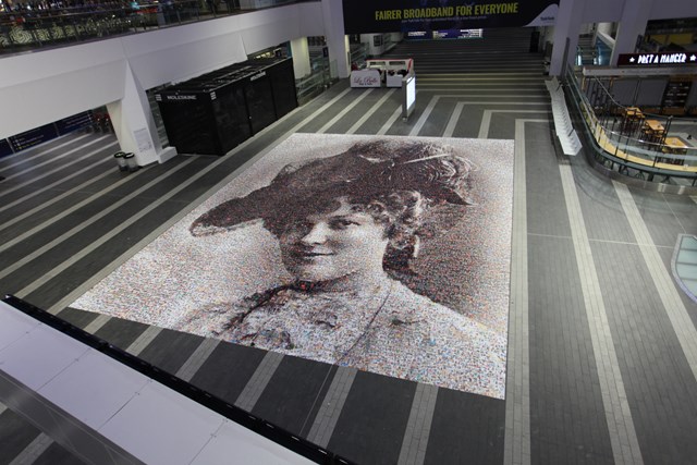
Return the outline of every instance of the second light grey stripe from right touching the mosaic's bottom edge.
{"type": "Polygon", "coordinates": [[[357,372],[358,370],[355,368],[337,368],[331,386],[307,435],[308,441],[322,448],[329,444],[357,372]]]}

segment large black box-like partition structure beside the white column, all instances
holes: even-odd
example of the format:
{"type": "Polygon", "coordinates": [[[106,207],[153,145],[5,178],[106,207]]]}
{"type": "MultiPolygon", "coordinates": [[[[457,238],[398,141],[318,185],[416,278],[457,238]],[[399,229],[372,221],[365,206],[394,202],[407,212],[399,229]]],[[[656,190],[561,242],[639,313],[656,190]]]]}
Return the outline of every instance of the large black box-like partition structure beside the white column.
{"type": "Polygon", "coordinates": [[[181,154],[224,155],[297,107],[291,59],[225,66],[155,95],[181,154]]]}

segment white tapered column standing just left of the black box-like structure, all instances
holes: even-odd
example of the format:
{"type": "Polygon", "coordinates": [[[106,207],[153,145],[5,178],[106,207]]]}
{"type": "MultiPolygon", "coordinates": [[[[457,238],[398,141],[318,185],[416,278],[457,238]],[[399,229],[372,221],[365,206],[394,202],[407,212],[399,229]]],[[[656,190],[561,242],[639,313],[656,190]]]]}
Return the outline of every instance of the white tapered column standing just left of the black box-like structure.
{"type": "Polygon", "coordinates": [[[123,99],[107,105],[119,145],[132,151],[138,166],[164,162],[176,155],[174,147],[162,149],[147,95],[131,65],[126,64],[123,99]]]}

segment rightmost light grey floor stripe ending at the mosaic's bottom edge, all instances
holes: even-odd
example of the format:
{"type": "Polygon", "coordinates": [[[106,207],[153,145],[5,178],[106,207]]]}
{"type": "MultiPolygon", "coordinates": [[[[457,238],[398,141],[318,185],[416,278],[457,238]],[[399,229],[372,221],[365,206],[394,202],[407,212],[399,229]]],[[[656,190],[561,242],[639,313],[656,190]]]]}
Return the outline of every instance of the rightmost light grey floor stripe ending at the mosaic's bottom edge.
{"type": "Polygon", "coordinates": [[[436,399],[438,388],[431,384],[419,383],[416,387],[409,419],[406,421],[406,431],[402,440],[402,449],[398,464],[421,465],[426,458],[426,448],[431,432],[433,412],[436,412],[436,399]]]}

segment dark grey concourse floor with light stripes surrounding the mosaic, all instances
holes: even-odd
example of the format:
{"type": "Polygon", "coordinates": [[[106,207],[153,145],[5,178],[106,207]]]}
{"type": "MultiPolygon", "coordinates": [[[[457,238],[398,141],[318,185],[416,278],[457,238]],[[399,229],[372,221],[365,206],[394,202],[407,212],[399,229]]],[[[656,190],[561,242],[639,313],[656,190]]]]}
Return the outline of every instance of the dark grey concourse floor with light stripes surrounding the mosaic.
{"type": "MultiPolygon", "coordinates": [[[[112,135],[73,134],[0,159],[0,292],[356,463],[694,463],[697,304],[671,264],[697,234],[697,197],[558,154],[529,34],[398,46],[417,73],[408,121],[400,91],[342,81],[225,157],[121,173],[112,135]],[[69,307],[290,133],[515,140],[505,400],[69,307]]],[[[0,406],[0,463],[13,461],[80,463],[0,406]]]]}

